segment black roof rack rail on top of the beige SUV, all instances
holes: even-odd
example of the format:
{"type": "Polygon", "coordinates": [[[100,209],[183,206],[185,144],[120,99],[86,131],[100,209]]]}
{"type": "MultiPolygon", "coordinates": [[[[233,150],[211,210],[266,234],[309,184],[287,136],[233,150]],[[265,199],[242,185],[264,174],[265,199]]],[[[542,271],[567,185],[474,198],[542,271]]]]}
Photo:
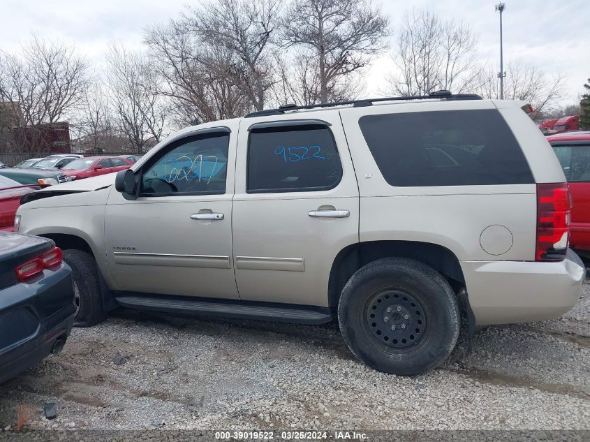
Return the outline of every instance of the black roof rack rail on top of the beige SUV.
{"type": "Polygon", "coordinates": [[[309,104],[303,106],[297,106],[294,104],[286,104],[279,106],[277,109],[265,109],[257,110],[247,114],[246,118],[251,117],[264,117],[266,115],[282,115],[288,110],[307,110],[314,108],[333,108],[334,106],[341,105],[353,105],[354,108],[360,108],[364,106],[372,106],[373,103],[381,103],[383,101],[408,101],[408,100],[428,100],[428,99],[444,99],[446,101],[460,101],[460,100],[482,100],[483,98],[477,94],[452,94],[450,91],[441,90],[431,92],[428,95],[416,95],[416,96],[393,96],[393,97],[382,97],[382,98],[362,98],[361,100],[348,100],[348,101],[334,101],[333,103],[320,103],[320,104],[309,104]]]}

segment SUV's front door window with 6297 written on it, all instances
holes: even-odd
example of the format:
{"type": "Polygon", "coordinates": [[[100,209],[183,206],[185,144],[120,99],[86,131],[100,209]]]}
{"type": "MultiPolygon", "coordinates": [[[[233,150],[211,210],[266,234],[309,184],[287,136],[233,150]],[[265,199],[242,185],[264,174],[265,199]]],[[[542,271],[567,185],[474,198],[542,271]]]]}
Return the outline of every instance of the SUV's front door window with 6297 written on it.
{"type": "Polygon", "coordinates": [[[142,175],[142,196],[226,192],[228,133],[192,135],[173,142],[142,175]]]}

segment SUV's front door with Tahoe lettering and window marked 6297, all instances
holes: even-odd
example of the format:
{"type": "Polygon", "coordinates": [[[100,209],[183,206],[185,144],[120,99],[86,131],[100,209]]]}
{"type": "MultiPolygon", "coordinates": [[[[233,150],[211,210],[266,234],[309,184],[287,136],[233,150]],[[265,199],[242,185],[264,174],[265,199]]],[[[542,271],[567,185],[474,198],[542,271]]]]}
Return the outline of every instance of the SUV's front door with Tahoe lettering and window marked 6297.
{"type": "Polygon", "coordinates": [[[105,239],[121,290],[238,297],[231,230],[236,132],[237,124],[234,133],[223,127],[185,134],[135,170],[136,200],[112,191],[105,239]]]}

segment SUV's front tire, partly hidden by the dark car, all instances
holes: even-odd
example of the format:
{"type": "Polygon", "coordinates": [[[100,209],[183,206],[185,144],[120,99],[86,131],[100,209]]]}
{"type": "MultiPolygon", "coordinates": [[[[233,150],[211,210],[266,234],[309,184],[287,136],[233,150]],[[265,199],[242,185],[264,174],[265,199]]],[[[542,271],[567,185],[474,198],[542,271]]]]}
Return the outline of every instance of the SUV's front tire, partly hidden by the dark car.
{"type": "Polygon", "coordinates": [[[74,318],[76,327],[90,327],[106,318],[101,297],[101,283],[98,279],[96,261],[85,251],[64,250],[64,261],[72,267],[72,278],[78,289],[79,305],[74,318]]]}

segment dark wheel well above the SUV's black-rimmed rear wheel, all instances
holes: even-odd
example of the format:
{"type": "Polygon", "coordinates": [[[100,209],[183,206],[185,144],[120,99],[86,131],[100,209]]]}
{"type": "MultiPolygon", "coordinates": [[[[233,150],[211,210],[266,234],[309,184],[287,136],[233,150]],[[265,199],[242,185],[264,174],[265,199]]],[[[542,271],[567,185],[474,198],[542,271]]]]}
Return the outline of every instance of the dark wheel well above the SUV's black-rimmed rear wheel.
{"type": "Polygon", "coordinates": [[[453,290],[465,286],[465,278],[455,253],[438,244],[415,241],[373,241],[352,244],[342,249],[332,263],[328,283],[330,307],[336,309],[346,281],[360,267],[374,260],[389,257],[411,258],[421,261],[440,272],[453,290]]]}

